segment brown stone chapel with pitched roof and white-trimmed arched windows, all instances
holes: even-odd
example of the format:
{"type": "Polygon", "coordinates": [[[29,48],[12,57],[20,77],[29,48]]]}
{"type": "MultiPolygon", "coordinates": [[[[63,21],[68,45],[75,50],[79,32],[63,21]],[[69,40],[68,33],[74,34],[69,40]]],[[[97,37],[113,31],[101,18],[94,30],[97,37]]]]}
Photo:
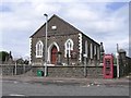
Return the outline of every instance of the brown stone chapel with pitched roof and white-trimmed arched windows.
{"type": "MultiPolygon", "coordinates": [[[[47,65],[93,65],[100,60],[100,45],[61,17],[52,15],[48,21],[47,65]]],[[[46,23],[31,37],[31,63],[44,65],[46,23]]]]}

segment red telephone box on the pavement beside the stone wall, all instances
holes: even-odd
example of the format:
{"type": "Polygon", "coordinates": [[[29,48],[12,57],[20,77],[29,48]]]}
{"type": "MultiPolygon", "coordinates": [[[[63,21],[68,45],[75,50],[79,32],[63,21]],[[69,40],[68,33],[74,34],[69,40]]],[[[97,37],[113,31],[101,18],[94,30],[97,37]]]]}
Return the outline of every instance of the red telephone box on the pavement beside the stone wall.
{"type": "Polygon", "coordinates": [[[114,78],[114,57],[112,57],[112,54],[104,56],[104,78],[114,78]]]}

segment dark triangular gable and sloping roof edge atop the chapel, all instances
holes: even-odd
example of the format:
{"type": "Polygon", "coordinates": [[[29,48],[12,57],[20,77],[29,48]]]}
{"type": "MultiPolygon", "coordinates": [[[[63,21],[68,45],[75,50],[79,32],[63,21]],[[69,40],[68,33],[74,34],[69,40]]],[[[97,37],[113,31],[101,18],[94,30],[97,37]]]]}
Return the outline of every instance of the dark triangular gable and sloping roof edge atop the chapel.
{"type": "MultiPolygon", "coordinates": [[[[32,38],[37,38],[37,37],[43,37],[45,36],[46,32],[46,23],[41,25],[31,37],[32,38]]],[[[59,17],[58,15],[53,14],[49,20],[48,20],[48,36],[64,36],[64,35],[74,35],[74,34],[83,34],[81,30],[59,17]],[[56,25],[57,29],[52,30],[51,26],[56,25]]],[[[86,36],[85,34],[83,34],[86,36]]],[[[93,40],[88,36],[86,36],[88,39],[93,40]]],[[[94,40],[93,40],[94,41],[94,40]]],[[[96,42],[96,41],[94,41],[96,42]]],[[[97,44],[97,42],[96,42],[97,44]]]]}

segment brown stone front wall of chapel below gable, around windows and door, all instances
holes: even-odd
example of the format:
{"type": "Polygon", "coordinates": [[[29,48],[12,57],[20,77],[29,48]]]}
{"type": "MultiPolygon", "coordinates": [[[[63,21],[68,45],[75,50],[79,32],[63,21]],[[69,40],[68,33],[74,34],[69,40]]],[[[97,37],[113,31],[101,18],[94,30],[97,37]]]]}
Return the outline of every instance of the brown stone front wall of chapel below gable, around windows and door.
{"type": "MultiPolygon", "coordinates": [[[[78,51],[79,53],[79,35],[62,35],[62,36],[49,36],[48,37],[48,50],[49,50],[49,47],[51,45],[53,45],[53,42],[56,42],[58,46],[59,46],[59,51],[61,52],[61,62],[62,63],[67,63],[67,58],[64,58],[64,44],[68,39],[72,39],[73,42],[74,42],[74,50],[78,51]]],[[[43,63],[44,59],[45,58],[36,58],[36,44],[38,40],[41,40],[44,46],[45,46],[45,37],[40,37],[40,38],[33,38],[32,39],[32,54],[31,54],[31,58],[32,58],[32,63],[43,63]]],[[[45,50],[45,49],[44,49],[45,50]]],[[[43,53],[45,54],[45,51],[43,51],[43,53]]],[[[48,53],[51,53],[51,51],[49,50],[48,53]]],[[[70,64],[72,62],[75,62],[78,63],[78,58],[79,58],[79,54],[76,54],[76,59],[75,60],[72,60],[70,59],[70,64]]],[[[50,54],[48,56],[50,57],[50,54]]],[[[50,59],[49,59],[49,63],[51,63],[50,59]]],[[[57,64],[57,62],[56,62],[57,64]]]]}

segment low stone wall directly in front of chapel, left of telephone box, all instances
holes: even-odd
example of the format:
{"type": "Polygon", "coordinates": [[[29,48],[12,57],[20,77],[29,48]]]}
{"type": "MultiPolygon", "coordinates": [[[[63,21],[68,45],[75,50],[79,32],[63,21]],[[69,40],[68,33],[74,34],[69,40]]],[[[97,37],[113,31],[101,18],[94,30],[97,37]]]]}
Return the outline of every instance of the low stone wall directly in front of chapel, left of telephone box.
{"type": "MultiPolygon", "coordinates": [[[[33,75],[37,75],[37,71],[44,72],[44,66],[32,66],[33,75]]],[[[49,77],[103,77],[103,66],[48,66],[47,74],[49,77]],[[86,73],[86,74],[85,74],[86,73]]]]}

